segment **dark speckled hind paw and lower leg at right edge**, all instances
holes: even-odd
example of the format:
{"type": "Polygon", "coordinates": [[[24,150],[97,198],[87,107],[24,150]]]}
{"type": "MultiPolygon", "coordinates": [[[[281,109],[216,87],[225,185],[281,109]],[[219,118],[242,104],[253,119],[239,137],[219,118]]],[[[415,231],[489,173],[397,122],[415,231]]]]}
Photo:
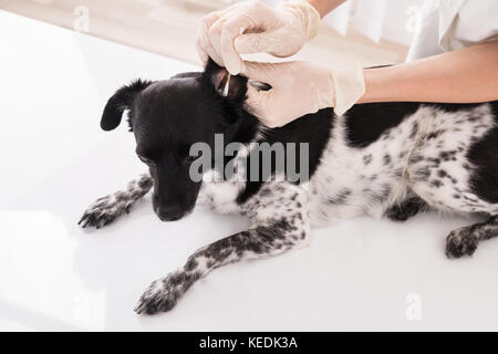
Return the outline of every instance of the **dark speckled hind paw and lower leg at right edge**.
{"type": "Polygon", "coordinates": [[[446,257],[473,256],[479,241],[496,236],[498,236],[498,216],[494,216],[485,222],[456,229],[446,238],[446,257]]]}

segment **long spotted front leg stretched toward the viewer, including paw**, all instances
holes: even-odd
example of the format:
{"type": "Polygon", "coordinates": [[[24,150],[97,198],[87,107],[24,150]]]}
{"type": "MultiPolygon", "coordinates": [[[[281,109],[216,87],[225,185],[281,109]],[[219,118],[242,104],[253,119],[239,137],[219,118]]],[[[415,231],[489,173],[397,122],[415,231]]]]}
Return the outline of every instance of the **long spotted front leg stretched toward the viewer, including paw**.
{"type": "Polygon", "coordinates": [[[186,264],[164,279],[154,281],[138,301],[138,314],[172,310],[179,298],[215,268],[242,260],[276,256],[303,244],[309,235],[301,219],[282,217],[266,225],[236,233],[190,256],[186,264]],[[301,222],[291,222],[301,220],[301,222]]]}

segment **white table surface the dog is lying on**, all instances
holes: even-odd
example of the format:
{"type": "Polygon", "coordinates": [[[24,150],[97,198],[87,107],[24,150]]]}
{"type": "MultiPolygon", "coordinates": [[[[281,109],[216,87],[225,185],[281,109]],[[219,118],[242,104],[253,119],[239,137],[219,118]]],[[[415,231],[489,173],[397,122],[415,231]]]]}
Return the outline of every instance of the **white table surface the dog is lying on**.
{"type": "Polygon", "coordinates": [[[76,226],[144,170],[125,124],[100,131],[107,98],[191,69],[0,11],[1,330],[498,329],[498,239],[449,261],[446,235],[471,220],[435,215],[314,230],[309,248],[218,269],[172,312],[136,315],[152,280],[247,226],[206,210],[165,223],[149,200],[104,229],[76,226]]]}

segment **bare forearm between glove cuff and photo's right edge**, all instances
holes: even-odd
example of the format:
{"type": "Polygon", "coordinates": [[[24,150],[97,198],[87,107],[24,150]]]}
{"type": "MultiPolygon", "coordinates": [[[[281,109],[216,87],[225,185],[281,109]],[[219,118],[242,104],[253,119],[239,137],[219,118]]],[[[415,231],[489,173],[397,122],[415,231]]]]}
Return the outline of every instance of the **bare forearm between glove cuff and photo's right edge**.
{"type": "Polygon", "coordinates": [[[388,67],[366,69],[359,103],[498,100],[498,41],[388,67]]]}

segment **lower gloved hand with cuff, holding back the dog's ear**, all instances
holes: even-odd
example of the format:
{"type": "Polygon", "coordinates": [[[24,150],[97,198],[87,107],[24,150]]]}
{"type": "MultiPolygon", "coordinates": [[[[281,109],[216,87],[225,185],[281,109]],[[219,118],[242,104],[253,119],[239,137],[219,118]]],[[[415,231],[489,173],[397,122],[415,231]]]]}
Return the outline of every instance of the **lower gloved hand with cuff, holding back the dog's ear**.
{"type": "Polygon", "coordinates": [[[312,62],[245,63],[243,75],[272,86],[249,85],[246,104],[268,127],[278,127],[319,110],[344,114],[365,93],[360,65],[329,70],[312,62]]]}

